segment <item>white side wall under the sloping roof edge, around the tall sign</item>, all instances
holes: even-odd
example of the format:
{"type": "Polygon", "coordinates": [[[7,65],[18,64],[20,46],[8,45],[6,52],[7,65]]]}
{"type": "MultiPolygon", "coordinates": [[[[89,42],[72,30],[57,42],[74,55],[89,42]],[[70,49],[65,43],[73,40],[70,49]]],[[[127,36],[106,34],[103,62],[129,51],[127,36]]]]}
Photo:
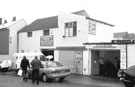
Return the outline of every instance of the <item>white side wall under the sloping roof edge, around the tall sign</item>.
{"type": "Polygon", "coordinates": [[[114,27],[96,22],[96,35],[88,34],[88,42],[111,42],[114,27]]]}

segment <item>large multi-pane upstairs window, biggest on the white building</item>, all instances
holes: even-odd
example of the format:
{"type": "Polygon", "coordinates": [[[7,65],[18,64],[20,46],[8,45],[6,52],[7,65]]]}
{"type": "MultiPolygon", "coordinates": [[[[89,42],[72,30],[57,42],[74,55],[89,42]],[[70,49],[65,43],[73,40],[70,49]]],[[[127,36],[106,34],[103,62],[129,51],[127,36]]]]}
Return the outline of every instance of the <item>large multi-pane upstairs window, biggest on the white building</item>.
{"type": "Polygon", "coordinates": [[[77,35],[77,22],[65,23],[65,36],[72,37],[77,35]]]}

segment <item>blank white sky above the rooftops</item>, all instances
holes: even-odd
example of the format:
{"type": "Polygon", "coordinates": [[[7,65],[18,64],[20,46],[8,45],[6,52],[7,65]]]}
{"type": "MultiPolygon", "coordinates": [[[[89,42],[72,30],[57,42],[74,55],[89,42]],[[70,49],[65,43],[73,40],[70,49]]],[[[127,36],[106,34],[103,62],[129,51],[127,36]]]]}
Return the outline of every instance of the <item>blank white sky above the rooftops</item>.
{"type": "Polygon", "coordinates": [[[115,25],[115,32],[135,33],[135,0],[0,0],[0,17],[13,16],[30,24],[36,19],[60,12],[86,10],[89,16],[115,25]]]}

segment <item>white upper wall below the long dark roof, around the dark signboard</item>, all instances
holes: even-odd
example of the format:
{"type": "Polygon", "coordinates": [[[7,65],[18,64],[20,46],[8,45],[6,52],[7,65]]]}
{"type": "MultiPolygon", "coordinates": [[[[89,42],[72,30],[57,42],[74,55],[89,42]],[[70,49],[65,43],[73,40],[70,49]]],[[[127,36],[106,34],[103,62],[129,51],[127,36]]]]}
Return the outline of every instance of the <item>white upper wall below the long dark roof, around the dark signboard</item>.
{"type": "Polygon", "coordinates": [[[43,36],[43,30],[32,31],[32,37],[27,37],[27,32],[19,33],[19,52],[40,52],[41,49],[54,49],[56,46],[56,40],[58,35],[55,34],[57,28],[50,29],[50,35],[53,35],[54,45],[53,46],[40,46],[40,36],[43,36]]]}

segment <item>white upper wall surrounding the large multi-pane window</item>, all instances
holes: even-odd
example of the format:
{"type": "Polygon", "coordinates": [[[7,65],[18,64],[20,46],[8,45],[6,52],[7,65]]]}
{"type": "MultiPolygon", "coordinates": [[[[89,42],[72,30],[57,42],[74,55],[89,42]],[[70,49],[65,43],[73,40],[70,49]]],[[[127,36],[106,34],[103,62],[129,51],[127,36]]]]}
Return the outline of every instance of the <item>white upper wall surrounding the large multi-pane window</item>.
{"type": "Polygon", "coordinates": [[[60,13],[58,16],[58,25],[59,29],[55,31],[55,40],[56,46],[82,46],[84,42],[86,42],[86,18],[84,16],[74,15],[74,14],[67,14],[67,13],[60,13]],[[77,21],[77,36],[75,37],[65,37],[65,23],[66,22],[73,22],[77,21]]]}

